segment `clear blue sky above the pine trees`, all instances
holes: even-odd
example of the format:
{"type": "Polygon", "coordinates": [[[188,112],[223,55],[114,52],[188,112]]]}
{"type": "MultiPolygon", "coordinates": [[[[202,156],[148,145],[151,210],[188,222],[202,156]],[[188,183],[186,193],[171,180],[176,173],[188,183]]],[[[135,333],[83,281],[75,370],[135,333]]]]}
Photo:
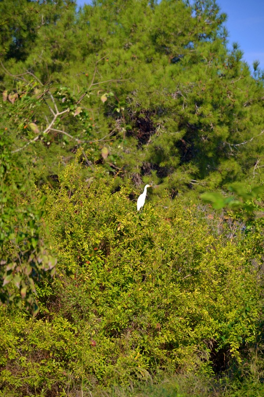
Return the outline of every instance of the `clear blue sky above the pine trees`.
{"type": "MultiPolygon", "coordinates": [[[[78,5],[84,3],[91,1],[77,0],[78,5]]],[[[264,0],[218,0],[217,3],[228,15],[229,47],[238,42],[244,60],[250,66],[259,60],[264,69],[264,0]]]]}

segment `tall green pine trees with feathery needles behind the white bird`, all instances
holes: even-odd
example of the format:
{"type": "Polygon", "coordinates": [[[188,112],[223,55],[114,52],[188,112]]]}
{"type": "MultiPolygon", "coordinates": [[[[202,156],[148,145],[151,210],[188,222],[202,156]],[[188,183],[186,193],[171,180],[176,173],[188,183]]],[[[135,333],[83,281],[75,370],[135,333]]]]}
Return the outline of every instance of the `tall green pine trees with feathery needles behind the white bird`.
{"type": "MultiPolygon", "coordinates": [[[[263,80],[258,66],[251,76],[237,44],[227,50],[226,15],[215,1],[105,0],[77,12],[74,1],[8,3],[0,31],[2,88],[23,94],[26,81],[21,88],[7,71],[29,71],[35,80],[23,78],[40,90],[30,112],[9,120],[14,149],[28,139],[17,128],[23,120],[45,130],[49,87],[58,109],[71,111],[57,118],[56,129],[87,142],[91,163],[103,162],[106,147],[106,173],[121,171],[116,184],[153,180],[157,193],[167,188],[174,196],[259,181],[263,80]]],[[[34,101],[32,90],[27,97],[34,101]]],[[[13,107],[21,108],[22,99],[13,107]]],[[[48,146],[23,150],[40,157],[35,167],[45,158],[45,177],[57,173],[58,154],[72,157],[76,141],[65,133],[49,131],[48,146]]]]}

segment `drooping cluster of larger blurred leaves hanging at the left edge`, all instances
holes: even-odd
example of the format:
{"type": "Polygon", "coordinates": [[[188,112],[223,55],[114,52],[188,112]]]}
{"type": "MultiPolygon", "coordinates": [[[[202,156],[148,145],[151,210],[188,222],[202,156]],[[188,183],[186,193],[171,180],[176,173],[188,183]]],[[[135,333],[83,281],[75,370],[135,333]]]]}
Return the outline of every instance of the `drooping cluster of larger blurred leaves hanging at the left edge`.
{"type": "MultiPolygon", "coordinates": [[[[55,258],[47,251],[41,218],[47,197],[42,196],[35,205],[12,206],[14,195],[7,197],[8,206],[1,217],[1,285],[2,303],[17,306],[24,301],[35,314],[38,311],[35,283],[45,275],[53,277],[55,258]],[[8,228],[5,227],[5,222],[8,228]],[[10,250],[10,248],[12,249],[10,250]],[[20,297],[16,290],[19,291],[20,297]]],[[[34,314],[33,313],[33,314],[34,314]]]]}

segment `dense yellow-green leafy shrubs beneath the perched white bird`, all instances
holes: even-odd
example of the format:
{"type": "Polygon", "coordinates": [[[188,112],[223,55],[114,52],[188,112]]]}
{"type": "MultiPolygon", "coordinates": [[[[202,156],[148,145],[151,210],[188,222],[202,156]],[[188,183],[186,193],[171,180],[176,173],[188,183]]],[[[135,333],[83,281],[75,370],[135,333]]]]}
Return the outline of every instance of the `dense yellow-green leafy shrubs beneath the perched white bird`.
{"type": "Polygon", "coordinates": [[[221,374],[245,367],[261,329],[261,283],[243,239],[224,226],[219,234],[221,220],[193,202],[167,208],[160,199],[138,213],[129,187],[88,187],[80,167],[45,192],[57,266],[37,286],[37,318],[0,307],[0,396],[226,389],[221,374]],[[175,374],[180,389],[149,389],[175,374]]]}

